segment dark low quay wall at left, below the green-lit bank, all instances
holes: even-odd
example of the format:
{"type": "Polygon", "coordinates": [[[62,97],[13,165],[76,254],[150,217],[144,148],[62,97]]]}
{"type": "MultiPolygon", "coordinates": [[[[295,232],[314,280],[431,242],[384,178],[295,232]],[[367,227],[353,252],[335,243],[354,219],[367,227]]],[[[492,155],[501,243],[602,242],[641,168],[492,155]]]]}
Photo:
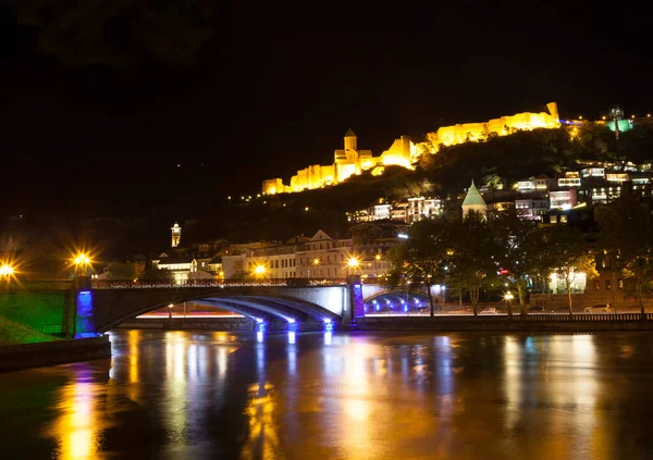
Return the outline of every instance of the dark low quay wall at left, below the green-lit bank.
{"type": "Polygon", "coordinates": [[[111,341],[102,335],[74,340],[53,339],[0,347],[0,372],[111,358],[111,341]]]}

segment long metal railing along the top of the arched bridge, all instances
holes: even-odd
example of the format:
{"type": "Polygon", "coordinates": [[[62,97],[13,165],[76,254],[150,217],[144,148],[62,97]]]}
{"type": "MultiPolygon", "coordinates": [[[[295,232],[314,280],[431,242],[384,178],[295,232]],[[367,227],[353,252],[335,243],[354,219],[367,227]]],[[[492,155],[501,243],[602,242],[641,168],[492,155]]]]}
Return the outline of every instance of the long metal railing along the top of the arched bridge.
{"type": "Polygon", "coordinates": [[[187,281],[132,281],[132,279],[94,279],[94,289],[178,289],[185,287],[245,287],[245,286],[344,286],[346,279],[340,278],[287,278],[287,279],[187,279],[187,281]]]}

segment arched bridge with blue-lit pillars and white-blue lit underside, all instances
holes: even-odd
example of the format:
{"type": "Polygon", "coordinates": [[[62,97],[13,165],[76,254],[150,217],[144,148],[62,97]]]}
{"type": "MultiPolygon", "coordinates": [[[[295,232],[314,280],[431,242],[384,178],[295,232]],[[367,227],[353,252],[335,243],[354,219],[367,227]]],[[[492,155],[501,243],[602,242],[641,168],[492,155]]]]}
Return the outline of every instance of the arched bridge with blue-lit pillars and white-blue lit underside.
{"type": "Polygon", "coordinates": [[[195,301],[235,311],[268,324],[332,323],[348,326],[362,311],[358,278],[281,281],[93,282],[77,295],[77,335],[106,332],[167,307],[195,301]],[[88,288],[89,287],[89,288],[88,288]],[[356,306],[360,308],[356,308],[356,306]],[[353,308],[355,311],[353,311],[353,308]]]}

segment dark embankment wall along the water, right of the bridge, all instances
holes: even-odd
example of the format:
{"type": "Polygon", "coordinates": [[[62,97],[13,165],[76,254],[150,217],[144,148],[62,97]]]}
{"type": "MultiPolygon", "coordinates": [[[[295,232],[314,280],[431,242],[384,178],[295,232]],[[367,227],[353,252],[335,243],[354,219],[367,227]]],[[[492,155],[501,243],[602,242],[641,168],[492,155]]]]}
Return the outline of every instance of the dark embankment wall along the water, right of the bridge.
{"type": "Polygon", "coordinates": [[[600,332],[653,331],[653,314],[642,321],[639,313],[612,315],[529,315],[514,316],[359,316],[360,331],[395,332],[600,332]]]}

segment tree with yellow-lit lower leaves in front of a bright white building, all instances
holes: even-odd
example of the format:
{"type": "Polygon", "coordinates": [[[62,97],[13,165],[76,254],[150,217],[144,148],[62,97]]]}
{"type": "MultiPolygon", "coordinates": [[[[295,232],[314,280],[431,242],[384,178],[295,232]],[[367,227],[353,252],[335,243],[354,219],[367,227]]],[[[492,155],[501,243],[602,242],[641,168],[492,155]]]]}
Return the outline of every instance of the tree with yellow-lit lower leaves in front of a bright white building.
{"type": "Polygon", "coordinates": [[[568,225],[558,224],[550,228],[545,240],[552,257],[553,271],[565,279],[569,314],[574,314],[571,284],[579,273],[584,272],[589,279],[599,275],[594,268],[594,256],[588,248],[582,233],[568,225]]]}

